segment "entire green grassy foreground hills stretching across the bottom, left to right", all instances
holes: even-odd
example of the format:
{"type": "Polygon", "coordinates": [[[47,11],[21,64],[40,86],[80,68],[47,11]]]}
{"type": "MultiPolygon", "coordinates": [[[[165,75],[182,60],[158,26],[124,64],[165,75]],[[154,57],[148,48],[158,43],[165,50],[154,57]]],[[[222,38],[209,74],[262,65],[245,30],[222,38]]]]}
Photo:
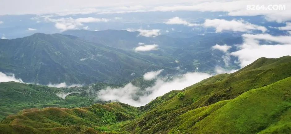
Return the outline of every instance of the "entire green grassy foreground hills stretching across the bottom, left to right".
{"type": "Polygon", "coordinates": [[[0,132],[288,134],[290,68],[291,56],[259,58],[235,73],[220,74],[181,91],[171,91],[139,108],[115,102],[74,109],[25,109],[3,119],[0,132]],[[104,106],[114,110],[108,111],[104,106]],[[98,114],[100,109],[111,114],[98,114]],[[91,119],[107,120],[109,115],[116,121],[102,123],[91,119]]]}

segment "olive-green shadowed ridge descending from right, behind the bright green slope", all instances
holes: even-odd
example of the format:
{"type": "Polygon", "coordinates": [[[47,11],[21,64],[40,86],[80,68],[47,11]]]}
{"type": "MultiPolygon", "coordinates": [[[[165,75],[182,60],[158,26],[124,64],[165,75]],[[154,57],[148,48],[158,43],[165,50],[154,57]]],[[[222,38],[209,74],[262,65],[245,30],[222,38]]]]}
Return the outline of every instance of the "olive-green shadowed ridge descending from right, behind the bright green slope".
{"type": "Polygon", "coordinates": [[[234,99],[251,89],[257,89],[291,76],[291,57],[259,58],[254,63],[232,74],[213,76],[182,91],[172,91],[141,107],[145,113],[124,130],[135,133],[167,133],[177,122],[177,115],[189,110],[209,106],[223,100],[234,99]],[[184,92],[178,99],[176,93],[184,92]]]}

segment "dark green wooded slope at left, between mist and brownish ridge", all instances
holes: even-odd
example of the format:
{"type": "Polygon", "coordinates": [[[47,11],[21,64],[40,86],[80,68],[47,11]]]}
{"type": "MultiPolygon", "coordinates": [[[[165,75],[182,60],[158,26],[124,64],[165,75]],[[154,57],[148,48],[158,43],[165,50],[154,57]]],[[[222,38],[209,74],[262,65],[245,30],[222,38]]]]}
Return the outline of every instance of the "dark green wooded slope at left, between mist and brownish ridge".
{"type": "Polygon", "coordinates": [[[96,83],[85,87],[53,88],[17,82],[0,82],[0,120],[27,108],[90,106],[98,102],[92,94],[107,86],[118,85],[96,83]],[[57,93],[63,92],[71,94],[64,99],[57,96],[57,93]]]}

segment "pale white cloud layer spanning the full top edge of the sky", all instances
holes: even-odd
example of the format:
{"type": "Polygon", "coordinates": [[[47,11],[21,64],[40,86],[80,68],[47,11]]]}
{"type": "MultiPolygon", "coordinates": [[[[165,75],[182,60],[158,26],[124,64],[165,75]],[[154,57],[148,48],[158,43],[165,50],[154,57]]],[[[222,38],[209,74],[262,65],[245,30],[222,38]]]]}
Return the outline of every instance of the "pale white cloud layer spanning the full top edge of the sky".
{"type": "Polygon", "coordinates": [[[37,1],[29,0],[30,2],[21,2],[21,4],[14,4],[20,2],[16,0],[3,1],[0,5],[0,15],[5,14],[56,14],[56,15],[74,15],[74,14],[104,14],[104,13],[128,13],[128,12],[148,12],[148,11],[211,11],[211,12],[228,12],[231,16],[256,16],[264,15],[269,21],[283,22],[291,20],[291,11],[288,8],[291,5],[289,0],[237,0],[237,1],[116,1],[104,2],[96,0],[82,1],[58,1],[57,6],[55,2],[49,0],[37,1]],[[33,3],[33,6],[31,5],[33,3]],[[121,4],[122,3],[122,4],[121,4]],[[285,10],[246,10],[247,5],[267,5],[269,4],[285,4],[285,10]],[[6,8],[9,5],[9,8],[6,8]],[[45,6],[44,6],[45,5],[45,6]],[[121,6],[120,6],[121,5],[121,6]],[[138,6],[143,5],[143,6],[138,6]],[[167,5],[167,6],[159,6],[167,5]],[[33,8],[27,8],[33,7],[33,8]],[[66,10],[64,10],[66,9],[66,10]]]}

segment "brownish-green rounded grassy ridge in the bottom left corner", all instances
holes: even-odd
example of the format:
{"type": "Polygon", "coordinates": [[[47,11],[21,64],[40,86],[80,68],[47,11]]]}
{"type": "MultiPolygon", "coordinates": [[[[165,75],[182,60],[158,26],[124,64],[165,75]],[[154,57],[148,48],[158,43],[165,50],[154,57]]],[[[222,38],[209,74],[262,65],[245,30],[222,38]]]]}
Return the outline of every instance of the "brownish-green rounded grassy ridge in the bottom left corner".
{"type": "MultiPolygon", "coordinates": [[[[56,107],[24,109],[17,115],[3,119],[0,132],[59,133],[59,130],[64,130],[76,133],[82,132],[80,130],[82,127],[86,130],[90,128],[98,130],[102,125],[134,119],[137,111],[135,107],[117,102],[74,109],[56,107]]],[[[98,132],[97,130],[92,132],[98,132]]]]}

